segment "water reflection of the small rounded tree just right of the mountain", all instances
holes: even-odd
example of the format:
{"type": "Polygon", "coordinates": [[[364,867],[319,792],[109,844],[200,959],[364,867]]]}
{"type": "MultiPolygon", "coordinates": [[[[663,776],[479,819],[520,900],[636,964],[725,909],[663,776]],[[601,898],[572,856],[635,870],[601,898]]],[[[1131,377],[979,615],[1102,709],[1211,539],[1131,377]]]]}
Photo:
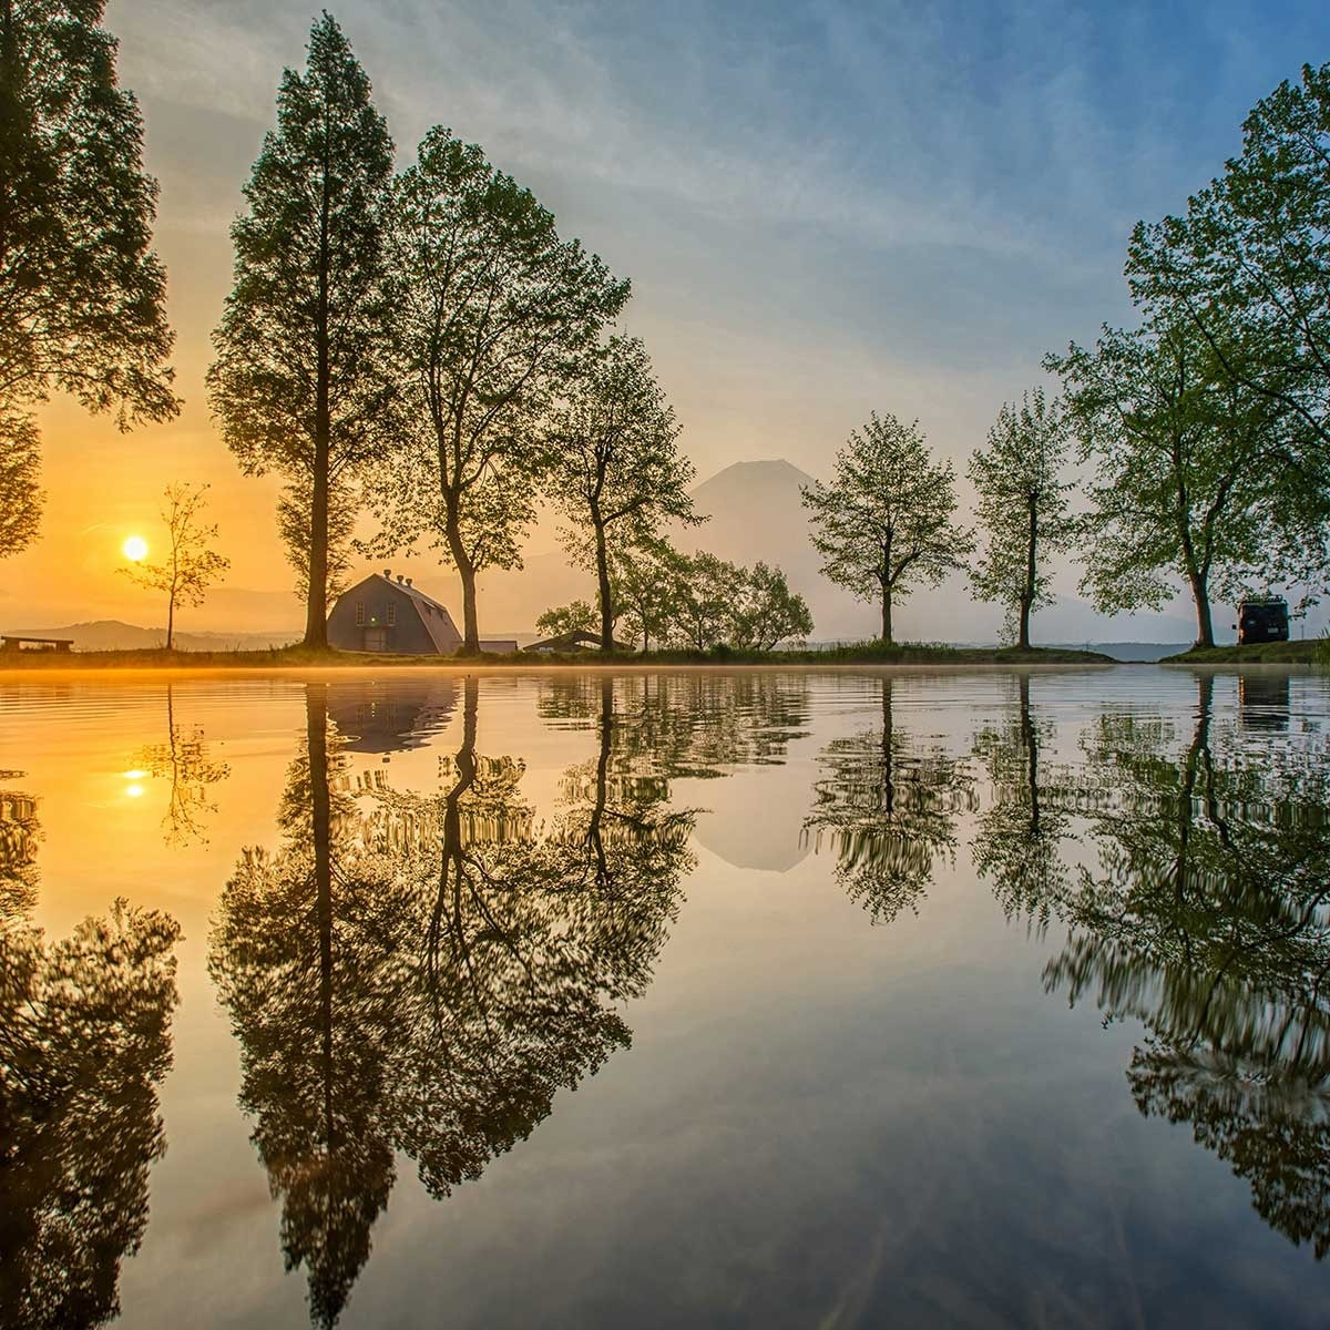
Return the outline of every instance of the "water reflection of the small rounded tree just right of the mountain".
{"type": "Polygon", "coordinates": [[[874,923],[918,910],[939,858],[956,851],[956,814],[974,810],[974,778],[940,745],[918,747],[895,721],[894,681],[882,680],[882,725],[833,739],[819,762],[805,833],[830,839],[837,882],[874,923]]]}

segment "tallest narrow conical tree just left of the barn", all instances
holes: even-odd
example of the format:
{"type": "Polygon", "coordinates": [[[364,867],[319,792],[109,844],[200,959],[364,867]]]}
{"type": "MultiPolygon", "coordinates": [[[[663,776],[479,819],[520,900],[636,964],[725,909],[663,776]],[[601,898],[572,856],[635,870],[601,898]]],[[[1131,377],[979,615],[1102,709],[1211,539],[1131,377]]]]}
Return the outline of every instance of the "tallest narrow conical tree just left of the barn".
{"type": "Polygon", "coordinates": [[[307,495],[305,645],[327,646],[329,512],[392,430],[383,213],[392,141],[336,21],[310,31],[303,74],[282,73],[277,128],[231,226],[235,283],[213,334],[213,410],[246,475],[307,495]],[[334,499],[334,495],[336,496],[334,499]]]}

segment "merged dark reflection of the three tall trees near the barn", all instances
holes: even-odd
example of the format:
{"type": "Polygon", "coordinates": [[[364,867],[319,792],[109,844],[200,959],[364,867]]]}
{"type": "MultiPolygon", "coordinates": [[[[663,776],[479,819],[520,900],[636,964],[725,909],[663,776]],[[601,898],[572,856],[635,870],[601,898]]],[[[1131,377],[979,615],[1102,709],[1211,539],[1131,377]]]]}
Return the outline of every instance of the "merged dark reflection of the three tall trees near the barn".
{"type": "Polygon", "coordinates": [[[548,827],[523,765],[477,753],[477,709],[472,677],[442,794],[356,790],[309,685],[282,845],[246,851],[222,896],[210,970],[321,1325],[368,1258],[394,1152],[443,1197],[629,1043],[617,1008],[645,991],[692,866],[692,818],[636,770],[608,678],[598,753],[548,827]]]}

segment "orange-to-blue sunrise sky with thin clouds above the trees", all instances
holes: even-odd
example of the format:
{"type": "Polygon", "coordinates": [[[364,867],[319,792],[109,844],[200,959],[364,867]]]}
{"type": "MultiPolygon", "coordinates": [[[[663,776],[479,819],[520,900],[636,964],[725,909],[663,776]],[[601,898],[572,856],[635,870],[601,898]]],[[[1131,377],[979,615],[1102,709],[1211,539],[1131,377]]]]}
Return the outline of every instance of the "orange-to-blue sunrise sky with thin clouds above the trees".
{"type": "MultiPolygon", "coordinates": [[[[827,476],[870,411],[919,418],[963,473],[1001,403],[1044,382],[1045,351],[1130,319],[1132,225],[1182,209],[1238,150],[1250,106],[1330,59],[1317,4],[346,0],[332,12],[400,162],[431,125],[451,126],[632,279],[624,326],[653,355],[700,480],[769,458],[827,476]]],[[[164,484],[185,480],[211,485],[231,569],[181,626],[301,625],[275,483],[239,473],[203,374],[230,286],[227,227],[315,13],[309,0],[110,0],[161,185],[185,407],[128,435],[69,402],[43,411],[43,539],[0,564],[0,621],[160,621],[116,568],[125,536],[153,540],[164,484]]],[[[532,548],[552,548],[551,533],[532,548]]],[[[395,568],[456,600],[432,560],[395,568]]],[[[1059,591],[1071,598],[1049,621],[1075,637],[1190,632],[1184,602],[1109,624],[1075,604],[1071,573],[1059,591]]],[[[524,602],[520,576],[483,593],[483,632],[531,628],[544,608],[524,602]]],[[[907,636],[972,638],[1000,618],[959,588],[928,601],[907,636]]]]}

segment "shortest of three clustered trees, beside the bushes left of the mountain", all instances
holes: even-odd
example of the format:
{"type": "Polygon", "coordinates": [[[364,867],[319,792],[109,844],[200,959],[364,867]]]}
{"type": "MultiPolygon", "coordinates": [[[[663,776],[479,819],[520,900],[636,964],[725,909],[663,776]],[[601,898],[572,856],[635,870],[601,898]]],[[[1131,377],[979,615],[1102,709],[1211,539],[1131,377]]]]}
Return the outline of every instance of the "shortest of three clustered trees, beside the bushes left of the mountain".
{"type": "Polygon", "coordinates": [[[641,544],[670,517],[689,525],[705,520],[693,512],[688,487],[697,472],[678,452],[678,432],[646,347],[614,336],[589,359],[547,434],[545,484],[573,524],[567,533],[573,552],[583,553],[589,540],[606,650],[617,618],[610,541],[628,531],[629,543],[641,544]]]}

